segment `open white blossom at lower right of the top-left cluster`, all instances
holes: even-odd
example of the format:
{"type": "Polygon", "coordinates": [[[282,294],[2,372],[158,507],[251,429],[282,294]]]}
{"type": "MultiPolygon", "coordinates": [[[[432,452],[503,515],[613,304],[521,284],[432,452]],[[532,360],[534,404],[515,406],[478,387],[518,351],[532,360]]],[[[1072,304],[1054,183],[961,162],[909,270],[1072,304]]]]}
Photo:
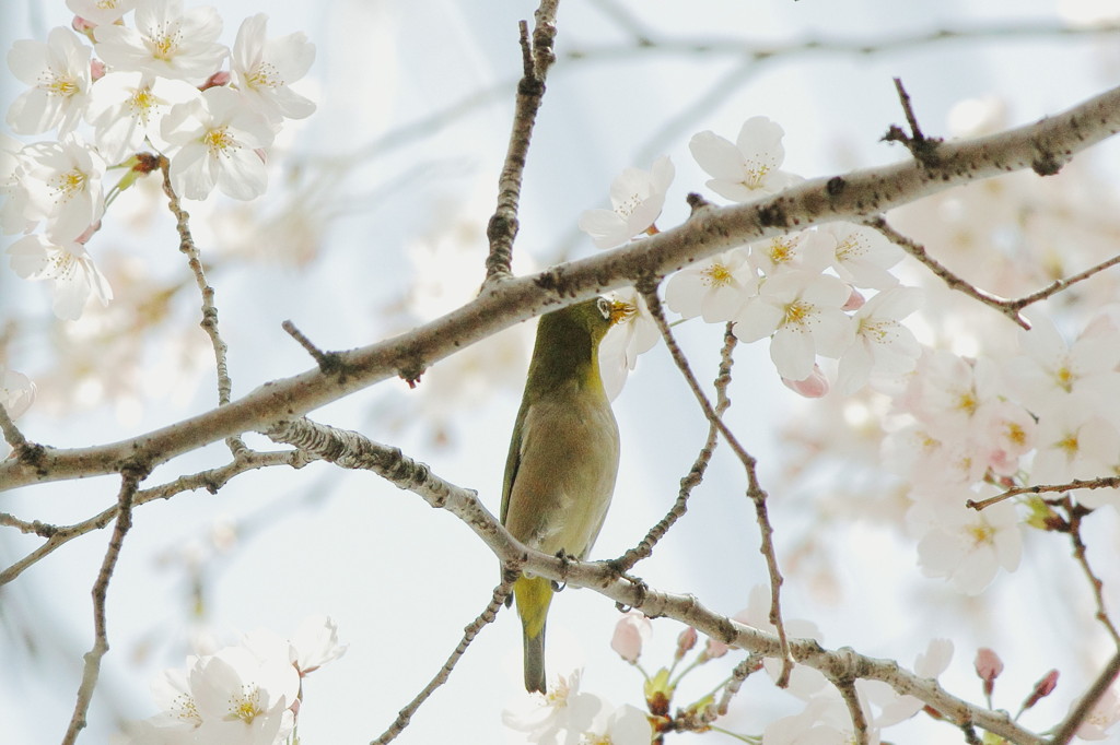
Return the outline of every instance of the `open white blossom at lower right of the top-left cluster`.
{"type": "Polygon", "coordinates": [[[207,88],[172,106],[162,135],[172,148],[171,186],[179,196],[205,199],[215,186],[235,199],[264,192],[268,171],[256,149],[272,143],[272,130],[230,88],[207,88]]]}

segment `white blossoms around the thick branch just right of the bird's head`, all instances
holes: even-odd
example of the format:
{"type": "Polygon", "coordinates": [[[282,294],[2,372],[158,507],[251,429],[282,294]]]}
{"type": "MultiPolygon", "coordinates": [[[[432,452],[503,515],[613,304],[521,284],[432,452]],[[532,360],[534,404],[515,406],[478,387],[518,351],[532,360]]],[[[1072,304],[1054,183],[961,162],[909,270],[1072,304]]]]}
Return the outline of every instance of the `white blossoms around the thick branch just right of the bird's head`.
{"type": "MultiPolygon", "coordinates": [[[[778,124],[755,116],[744,123],[734,143],[700,132],[689,148],[712,176],[709,188],[747,202],[801,180],[781,170],[782,136],[778,124]]],[[[648,172],[626,169],[612,185],[613,208],[586,211],[580,227],[600,248],[656,233],[654,221],[673,173],[665,157],[648,172]]],[[[804,396],[823,396],[830,389],[819,357],[838,360],[836,385],[850,394],[872,378],[904,375],[917,361],[917,341],[900,321],[917,310],[921,293],[902,286],[889,271],[902,256],[878,232],[836,223],[697,262],[669,280],[665,301],[685,319],[734,322],[743,341],[769,339],[778,375],[804,396]]],[[[633,312],[604,340],[604,375],[610,393],[620,388],[620,378],[634,368],[636,356],[660,338],[644,303],[633,293],[618,300],[633,312]]]]}

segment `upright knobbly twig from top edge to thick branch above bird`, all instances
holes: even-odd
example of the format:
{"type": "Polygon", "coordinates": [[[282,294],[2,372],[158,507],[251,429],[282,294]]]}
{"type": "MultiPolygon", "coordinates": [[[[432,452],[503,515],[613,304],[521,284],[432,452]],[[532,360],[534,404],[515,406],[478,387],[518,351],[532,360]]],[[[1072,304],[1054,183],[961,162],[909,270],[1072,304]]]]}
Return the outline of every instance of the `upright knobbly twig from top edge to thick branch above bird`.
{"type": "Polygon", "coordinates": [[[529,25],[521,21],[522,77],[513,111],[513,130],[497,183],[497,208],[486,226],[489,255],[486,257],[486,282],[508,276],[513,262],[513,242],[517,237],[517,206],[521,200],[521,178],[529,157],[536,113],[544,100],[544,79],[556,62],[553,45],[557,36],[559,0],[542,0],[534,13],[532,41],[529,25]]]}

